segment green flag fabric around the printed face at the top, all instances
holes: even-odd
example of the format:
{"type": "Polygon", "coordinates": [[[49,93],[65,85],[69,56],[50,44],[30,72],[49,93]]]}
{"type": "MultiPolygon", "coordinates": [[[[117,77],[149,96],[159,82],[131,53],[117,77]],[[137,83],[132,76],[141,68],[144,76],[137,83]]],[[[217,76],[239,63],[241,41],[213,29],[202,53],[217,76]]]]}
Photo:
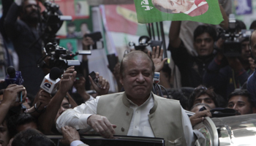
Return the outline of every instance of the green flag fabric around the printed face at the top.
{"type": "Polygon", "coordinates": [[[164,20],[192,20],[201,23],[209,23],[217,25],[222,22],[222,13],[219,9],[218,0],[206,0],[208,3],[208,11],[203,15],[191,17],[184,13],[167,13],[161,12],[155,8],[151,0],[134,0],[138,23],[154,23],[164,20]],[[148,10],[145,10],[148,9],[148,10]]]}

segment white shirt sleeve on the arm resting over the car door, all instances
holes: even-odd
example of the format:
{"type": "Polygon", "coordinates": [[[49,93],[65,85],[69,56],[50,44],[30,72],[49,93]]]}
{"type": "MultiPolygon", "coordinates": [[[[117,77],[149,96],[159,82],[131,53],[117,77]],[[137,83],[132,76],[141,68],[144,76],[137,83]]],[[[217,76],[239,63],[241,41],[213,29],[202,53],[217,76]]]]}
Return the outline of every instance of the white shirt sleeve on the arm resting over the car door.
{"type": "Polygon", "coordinates": [[[91,101],[86,101],[85,104],[80,104],[74,109],[69,109],[63,112],[56,121],[56,128],[61,132],[61,127],[72,126],[79,130],[79,133],[84,133],[91,130],[91,126],[87,124],[87,119],[94,114],[97,114],[97,104],[99,97],[91,101]]]}

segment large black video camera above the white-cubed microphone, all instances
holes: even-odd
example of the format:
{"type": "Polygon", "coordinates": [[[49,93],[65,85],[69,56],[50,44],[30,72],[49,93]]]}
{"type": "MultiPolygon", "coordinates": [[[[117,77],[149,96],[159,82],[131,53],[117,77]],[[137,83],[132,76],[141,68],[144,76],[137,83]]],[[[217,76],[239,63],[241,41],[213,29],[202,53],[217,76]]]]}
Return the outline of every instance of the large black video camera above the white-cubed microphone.
{"type": "Polygon", "coordinates": [[[78,72],[77,77],[83,76],[83,69],[80,66],[80,61],[75,60],[76,55],[91,55],[91,50],[78,50],[75,54],[57,44],[49,42],[44,48],[45,56],[38,62],[38,67],[47,67],[52,69],[58,67],[61,72],[64,72],[69,66],[75,66],[75,71],[78,72]],[[49,64],[45,64],[45,58],[50,56],[49,64]]]}

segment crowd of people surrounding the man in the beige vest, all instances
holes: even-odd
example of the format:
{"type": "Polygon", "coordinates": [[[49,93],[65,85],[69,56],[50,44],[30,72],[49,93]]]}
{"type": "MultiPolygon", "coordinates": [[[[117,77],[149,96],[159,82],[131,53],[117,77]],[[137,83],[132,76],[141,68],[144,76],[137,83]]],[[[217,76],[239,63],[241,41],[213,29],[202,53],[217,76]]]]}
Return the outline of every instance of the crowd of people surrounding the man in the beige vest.
{"type": "MultiPolygon", "coordinates": [[[[61,72],[59,76],[61,80],[56,92],[48,93],[40,88],[45,75],[50,72],[49,66],[52,63],[49,62],[50,58],[45,58],[42,64],[37,66],[38,60],[45,55],[43,53],[45,40],[42,40],[42,36],[45,35],[46,30],[43,29],[45,23],[39,19],[40,5],[40,2],[34,0],[3,1],[4,13],[0,20],[0,40],[3,45],[0,46],[0,63],[4,67],[13,65],[10,50],[7,48],[12,45],[18,54],[18,70],[22,73],[24,83],[6,85],[4,80],[0,82],[3,86],[0,91],[0,145],[2,146],[55,145],[45,135],[61,133],[64,136],[61,142],[70,145],[80,139],[78,131],[71,126],[57,129],[56,121],[59,116],[86,101],[93,101],[97,96],[109,94],[110,85],[108,80],[105,80],[104,73],[96,72],[97,82],[89,76],[86,55],[83,56],[81,64],[82,76],[77,77],[78,70],[75,70],[75,66],[69,66],[61,72]],[[20,96],[22,98],[17,99],[20,96]]],[[[236,46],[238,49],[232,52],[233,45],[228,45],[224,34],[239,34],[246,29],[246,26],[242,21],[236,20],[235,31],[230,30],[228,13],[223,7],[221,9],[224,18],[222,25],[216,27],[197,24],[195,30],[192,28],[189,30],[193,31],[192,37],[186,37],[193,44],[189,48],[184,34],[181,35],[183,22],[171,23],[167,49],[181,73],[182,88],[171,88],[171,69],[165,65],[167,58],[162,58],[163,50],[159,50],[159,47],[149,51],[144,50],[154,63],[154,71],[161,74],[159,84],[154,83],[153,86],[155,88],[162,85],[162,87],[160,90],[152,91],[162,98],[179,100],[184,110],[195,112],[195,115],[189,118],[192,126],[199,123],[204,116],[214,117],[216,110],[230,116],[256,112],[255,22],[249,28],[252,34],[239,37],[240,44],[236,46]],[[225,31],[219,31],[220,29],[225,31]],[[197,55],[189,53],[191,48],[197,55]],[[227,111],[227,109],[233,110],[227,111]],[[206,110],[207,114],[202,112],[203,110],[206,110]]],[[[61,15],[61,12],[59,14],[61,15]]],[[[61,22],[53,27],[60,26],[61,22]]],[[[93,44],[90,37],[83,37],[84,50],[93,44]]],[[[118,82],[119,92],[124,91],[124,84],[119,82],[124,75],[121,74],[123,70],[121,63],[118,63],[111,71],[118,82]]]]}

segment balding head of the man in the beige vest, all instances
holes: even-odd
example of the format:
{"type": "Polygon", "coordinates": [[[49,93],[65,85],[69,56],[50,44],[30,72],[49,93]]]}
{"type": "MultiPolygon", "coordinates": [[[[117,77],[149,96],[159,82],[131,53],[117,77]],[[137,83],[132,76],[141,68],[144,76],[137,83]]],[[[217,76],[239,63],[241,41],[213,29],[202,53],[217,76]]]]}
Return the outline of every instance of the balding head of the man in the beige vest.
{"type": "Polygon", "coordinates": [[[124,56],[120,65],[120,82],[128,99],[142,103],[148,99],[153,87],[154,69],[151,58],[140,50],[124,56]]]}

